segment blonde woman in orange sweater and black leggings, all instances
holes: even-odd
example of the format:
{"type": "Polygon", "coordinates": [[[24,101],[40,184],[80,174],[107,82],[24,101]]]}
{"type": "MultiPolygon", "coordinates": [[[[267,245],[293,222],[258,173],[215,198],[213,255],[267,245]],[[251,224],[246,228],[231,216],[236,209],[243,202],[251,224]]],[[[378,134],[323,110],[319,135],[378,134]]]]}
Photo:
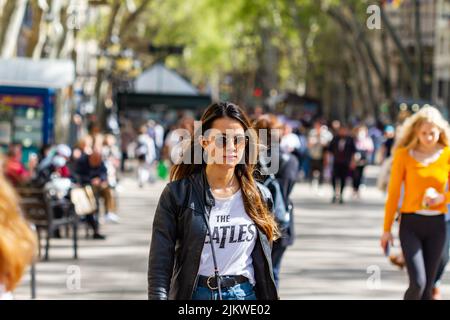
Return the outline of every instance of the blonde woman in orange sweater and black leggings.
{"type": "Polygon", "coordinates": [[[436,108],[424,107],[405,121],[394,149],[381,246],[386,250],[393,244],[391,227],[403,184],[400,243],[409,275],[407,300],[432,298],[446,240],[449,141],[448,122],[436,108]]]}

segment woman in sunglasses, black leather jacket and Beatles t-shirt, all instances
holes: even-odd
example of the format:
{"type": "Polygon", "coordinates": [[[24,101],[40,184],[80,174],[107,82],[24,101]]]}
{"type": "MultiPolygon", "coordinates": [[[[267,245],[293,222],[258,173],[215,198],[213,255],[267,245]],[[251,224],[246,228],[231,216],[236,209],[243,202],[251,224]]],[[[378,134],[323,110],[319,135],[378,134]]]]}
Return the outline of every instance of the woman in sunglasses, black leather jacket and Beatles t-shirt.
{"type": "Polygon", "coordinates": [[[271,243],[278,230],[270,192],[253,179],[250,129],[232,103],[212,104],[203,114],[156,209],[149,299],[277,299],[271,243]]]}

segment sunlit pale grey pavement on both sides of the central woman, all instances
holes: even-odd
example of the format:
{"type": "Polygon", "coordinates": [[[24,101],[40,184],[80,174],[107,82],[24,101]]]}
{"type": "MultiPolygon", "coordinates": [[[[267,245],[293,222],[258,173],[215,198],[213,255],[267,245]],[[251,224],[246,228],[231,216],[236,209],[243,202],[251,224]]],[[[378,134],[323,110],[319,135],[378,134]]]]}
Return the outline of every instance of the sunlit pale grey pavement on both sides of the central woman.
{"type": "MultiPolygon", "coordinates": [[[[368,174],[373,178],[377,170],[369,168],[368,174]]],[[[124,179],[120,224],[102,226],[106,241],[84,239],[82,228],[77,261],[71,259],[70,241],[52,240],[50,261],[37,264],[38,299],[146,299],[151,224],[164,185],[139,189],[124,179]]],[[[315,194],[307,184],[293,191],[297,239],[283,260],[281,298],[401,299],[406,273],[390,265],[379,248],[382,193],[368,187],[362,199],[347,194],[348,202],[338,205],[330,203],[330,187],[322,192],[315,194]]],[[[444,297],[450,298],[448,275],[443,282],[444,297]]],[[[16,297],[30,298],[28,275],[16,297]]]]}

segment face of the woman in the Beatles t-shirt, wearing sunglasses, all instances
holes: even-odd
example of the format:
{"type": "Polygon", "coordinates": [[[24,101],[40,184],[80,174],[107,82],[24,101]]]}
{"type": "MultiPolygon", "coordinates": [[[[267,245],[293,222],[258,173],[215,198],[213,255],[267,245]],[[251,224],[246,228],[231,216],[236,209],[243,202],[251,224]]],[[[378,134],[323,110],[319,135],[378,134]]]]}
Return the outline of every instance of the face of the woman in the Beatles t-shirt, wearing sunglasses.
{"type": "Polygon", "coordinates": [[[231,118],[214,120],[201,145],[207,154],[207,163],[235,167],[242,159],[246,136],[242,124],[231,118]]]}

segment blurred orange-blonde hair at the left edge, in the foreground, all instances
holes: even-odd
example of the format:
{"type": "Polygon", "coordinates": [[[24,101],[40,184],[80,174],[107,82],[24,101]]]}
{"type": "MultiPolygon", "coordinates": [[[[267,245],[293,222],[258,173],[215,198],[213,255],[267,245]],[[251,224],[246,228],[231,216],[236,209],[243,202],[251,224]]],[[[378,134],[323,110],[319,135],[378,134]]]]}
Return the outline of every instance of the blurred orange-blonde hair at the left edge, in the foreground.
{"type": "Polygon", "coordinates": [[[18,203],[16,192],[0,172],[0,282],[7,291],[16,288],[37,245],[18,203]]]}

